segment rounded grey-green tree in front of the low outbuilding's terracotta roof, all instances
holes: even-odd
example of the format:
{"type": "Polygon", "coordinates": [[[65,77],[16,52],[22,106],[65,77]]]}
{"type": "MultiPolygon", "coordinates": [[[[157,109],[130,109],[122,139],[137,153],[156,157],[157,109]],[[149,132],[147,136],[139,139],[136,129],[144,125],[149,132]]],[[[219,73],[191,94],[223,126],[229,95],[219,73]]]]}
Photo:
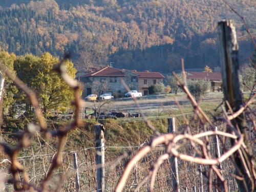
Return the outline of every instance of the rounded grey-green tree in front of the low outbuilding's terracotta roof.
{"type": "Polygon", "coordinates": [[[196,101],[205,97],[209,87],[210,82],[203,79],[190,80],[188,82],[188,90],[195,97],[196,101]]]}

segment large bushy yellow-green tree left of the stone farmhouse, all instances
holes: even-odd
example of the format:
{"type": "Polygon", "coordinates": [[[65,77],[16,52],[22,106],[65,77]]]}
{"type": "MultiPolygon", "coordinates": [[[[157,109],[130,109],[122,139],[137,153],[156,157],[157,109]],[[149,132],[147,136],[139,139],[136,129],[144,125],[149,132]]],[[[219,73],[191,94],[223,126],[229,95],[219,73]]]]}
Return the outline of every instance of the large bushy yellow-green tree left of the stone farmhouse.
{"type": "MultiPolygon", "coordinates": [[[[49,115],[60,108],[70,107],[73,99],[73,92],[57,73],[52,69],[59,61],[50,53],[44,53],[41,57],[27,54],[20,56],[14,62],[17,76],[22,79],[27,86],[37,94],[42,111],[49,115]]],[[[71,61],[66,61],[68,74],[75,78],[76,70],[71,61]]],[[[30,102],[24,98],[27,112],[31,112],[30,102]]]]}

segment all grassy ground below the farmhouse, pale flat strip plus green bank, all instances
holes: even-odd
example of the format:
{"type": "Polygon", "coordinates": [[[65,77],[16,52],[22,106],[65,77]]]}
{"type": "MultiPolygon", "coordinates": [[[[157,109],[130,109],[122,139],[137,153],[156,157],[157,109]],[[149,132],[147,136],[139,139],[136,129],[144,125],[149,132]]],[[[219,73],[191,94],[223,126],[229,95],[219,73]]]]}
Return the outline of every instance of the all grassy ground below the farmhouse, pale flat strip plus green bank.
{"type": "MultiPolygon", "coordinates": [[[[212,114],[218,115],[220,114],[220,109],[214,111],[218,104],[221,101],[221,95],[217,94],[209,94],[204,102],[201,102],[201,108],[206,112],[206,114],[211,117],[212,114]],[[217,101],[219,102],[217,102],[217,101]]],[[[183,94],[179,94],[178,96],[183,104],[181,105],[181,110],[187,119],[190,119],[193,115],[193,108],[185,98],[183,94]]],[[[167,118],[168,117],[176,117],[177,126],[179,127],[184,123],[184,119],[181,115],[181,111],[178,109],[175,104],[174,94],[165,95],[163,99],[148,99],[148,100],[138,100],[142,112],[146,115],[146,118],[152,121],[153,125],[160,133],[166,133],[167,131],[167,118]],[[146,104],[145,104],[146,103],[146,104]],[[163,104],[165,103],[165,104],[163,104]],[[155,108],[152,108],[151,105],[154,105],[155,108]]],[[[92,104],[87,102],[88,109],[87,113],[92,113],[91,109],[92,104]]],[[[134,101],[113,101],[109,103],[108,106],[105,106],[106,110],[110,110],[113,108],[120,107],[126,109],[126,112],[136,112],[139,110],[136,108],[134,101]],[[132,106],[130,110],[129,106],[132,106]]],[[[119,109],[120,109],[119,108],[119,109]]],[[[120,109],[120,111],[122,111],[120,109]]],[[[26,126],[29,122],[33,121],[28,119],[9,119],[2,126],[2,136],[8,142],[14,145],[16,143],[15,136],[22,130],[26,129],[26,126]]],[[[70,122],[70,120],[48,120],[49,129],[60,129],[70,122]]],[[[106,128],[106,142],[111,145],[123,145],[129,141],[131,144],[139,144],[147,138],[150,138],[153,134],[152,130],[150,130],[146,124],[143,122],[141,117],[139,118],[118,118],[107,119],[107,120],[99,120],[106,128]]],[[[69,134],[69,141],[67,141],[66,150],[74,150],[76,147],[80,147],[81,145],[85,147],[94,146],[94,141],[91,142],[91,138],[94,138],[93,125],[96,123],[95,119],[85,119],[84,126],[82,129],[77,129],[69,134]],[[89,142],[90,140],[90,142],[89,142]],[[74,142],[75,141],[75,142],[74,142]],[[72,144],[70,144],[72,143],[72,144]],[[72,147],[70,148],[70,145],[72,147]]],[[[38,134],[39,135],[39,134],[38,134]]],[[[39,136],[38,136],[39,137],[39,136]]],[[[35,137],[35,143],[38,142],[38,138],[35,137]]],[[[55,146],[57,143],[56,139],[48,141],[49,145],[55,146]]],[[[35,151],[38,150],[39,145],[34,144],[35,151]]],[[[20,154],[23,156],[24,154],[20,154]]]]}

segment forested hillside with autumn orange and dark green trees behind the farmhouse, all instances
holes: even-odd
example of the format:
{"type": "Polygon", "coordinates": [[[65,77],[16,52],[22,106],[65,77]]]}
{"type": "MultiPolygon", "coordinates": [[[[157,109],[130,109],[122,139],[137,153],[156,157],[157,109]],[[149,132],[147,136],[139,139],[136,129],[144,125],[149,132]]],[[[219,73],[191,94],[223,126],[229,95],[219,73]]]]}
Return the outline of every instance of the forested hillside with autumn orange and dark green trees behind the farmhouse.
{"type": "MultiPolygon", "coordinates": [[[[180,68],[219,65],[217,22],[242,21],[218,0],[42,0],[0,1],[0,47],[17,55],[50,52],[73,54],[78,70],[114,62],[117,68],[171,72],[180,68]],[[13,5],[13,4],[16,5],[13,5]]],[[[256,32],[256,3],[230,5],[256,32]]],[[[253,46],[240,38],[240,58],[246,62],[253,46]]]]}

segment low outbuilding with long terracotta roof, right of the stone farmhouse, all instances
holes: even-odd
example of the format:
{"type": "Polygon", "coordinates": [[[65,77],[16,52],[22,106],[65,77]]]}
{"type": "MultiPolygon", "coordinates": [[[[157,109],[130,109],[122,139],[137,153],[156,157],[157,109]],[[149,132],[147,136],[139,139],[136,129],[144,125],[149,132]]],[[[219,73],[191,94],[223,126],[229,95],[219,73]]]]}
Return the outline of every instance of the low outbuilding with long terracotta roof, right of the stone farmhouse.
{"type": "Polygon", "coordinates": [[[219,72],[187,72],[187,79],[205,79],[211,83],[210,91],[214,92],[221,89],[222,79],[219,72]]]}

